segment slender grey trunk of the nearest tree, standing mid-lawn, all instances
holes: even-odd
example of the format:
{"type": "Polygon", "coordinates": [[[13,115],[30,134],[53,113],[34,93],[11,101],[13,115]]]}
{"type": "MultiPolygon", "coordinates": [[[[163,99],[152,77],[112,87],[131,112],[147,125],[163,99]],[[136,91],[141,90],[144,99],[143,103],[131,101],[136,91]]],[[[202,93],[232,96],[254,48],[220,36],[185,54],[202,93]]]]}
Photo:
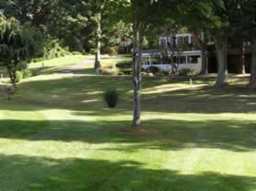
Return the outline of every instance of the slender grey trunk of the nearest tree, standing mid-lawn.
{"type": "Polygon", "coordinates": [[[137,20],[133,23],[133,64],[132,64],[132,80],[133,80],[133,120],[132,126],[138,127],[140,125],[140,61],[141,61],[141,45],[143,41],[143,28],[139,25],[137,20]]]}

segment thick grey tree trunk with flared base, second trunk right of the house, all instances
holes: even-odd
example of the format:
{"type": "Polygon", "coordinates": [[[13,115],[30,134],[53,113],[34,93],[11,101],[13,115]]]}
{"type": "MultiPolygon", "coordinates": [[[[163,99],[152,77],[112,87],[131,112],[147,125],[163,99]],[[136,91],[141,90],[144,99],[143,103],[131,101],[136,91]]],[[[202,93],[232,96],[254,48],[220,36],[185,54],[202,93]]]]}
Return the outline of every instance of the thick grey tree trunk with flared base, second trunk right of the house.
{"type": "Polygon", "coordinates": [[[228,84],[228,37],[217,39],[217,81],[216,88],[228,84]]]}

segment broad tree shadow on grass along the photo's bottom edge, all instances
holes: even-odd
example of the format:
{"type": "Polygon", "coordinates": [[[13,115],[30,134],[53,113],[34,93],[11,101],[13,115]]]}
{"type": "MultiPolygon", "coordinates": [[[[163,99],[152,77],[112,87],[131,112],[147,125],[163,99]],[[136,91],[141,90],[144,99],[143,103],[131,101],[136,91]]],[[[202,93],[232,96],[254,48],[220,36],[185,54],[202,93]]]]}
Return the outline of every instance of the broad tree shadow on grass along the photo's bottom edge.
{"type": "Polygon", "coordinates": [[[256,177],[214,172],[183,175],[169,169],[146,168],[135,161],[1,154],[0,168],[0,186],[6,191],[253,191],[256,188],[256,177]]]}

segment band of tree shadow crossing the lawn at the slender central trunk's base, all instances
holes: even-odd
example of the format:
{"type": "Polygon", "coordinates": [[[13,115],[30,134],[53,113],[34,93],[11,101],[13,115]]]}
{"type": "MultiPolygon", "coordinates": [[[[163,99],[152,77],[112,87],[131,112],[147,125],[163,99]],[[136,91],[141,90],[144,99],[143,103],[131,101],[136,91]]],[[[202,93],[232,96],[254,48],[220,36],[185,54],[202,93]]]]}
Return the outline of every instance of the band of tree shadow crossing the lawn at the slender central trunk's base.
{"type": "Polygon", "coordinates": [[[0,137],[30,141],[117,143],[106,150],[183,150],[217,148],[234,152],[256,149],[256,122],[154,119],[132,131],[129,121],[22,121],[1,120],[0,137]],[[125,143],[122,146],[118,143],[125,143]]]}

